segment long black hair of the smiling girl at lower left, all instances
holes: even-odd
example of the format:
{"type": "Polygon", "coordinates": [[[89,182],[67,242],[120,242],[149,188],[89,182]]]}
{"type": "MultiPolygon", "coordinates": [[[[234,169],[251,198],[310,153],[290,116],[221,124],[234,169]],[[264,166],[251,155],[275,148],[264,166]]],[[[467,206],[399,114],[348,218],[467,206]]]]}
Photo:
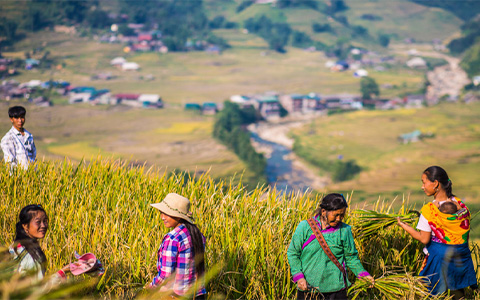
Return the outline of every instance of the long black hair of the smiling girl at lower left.
{"type": "Polygon", "coordinates": [[[18,216],[19,221],[15,226],[15,240],[14,240],[14,249],[17,251],[17,244],[21,244],[25,250],[32,256],[33,260],[43,264],[47,261],[45,253],[43,253],[40,244],[37,239],[31,238],[23,229],[23,225],[30,224],[30,221],[35,217],[38,212],[47,213],[41,205],[30,204],[22,208],[18,216]]]}

